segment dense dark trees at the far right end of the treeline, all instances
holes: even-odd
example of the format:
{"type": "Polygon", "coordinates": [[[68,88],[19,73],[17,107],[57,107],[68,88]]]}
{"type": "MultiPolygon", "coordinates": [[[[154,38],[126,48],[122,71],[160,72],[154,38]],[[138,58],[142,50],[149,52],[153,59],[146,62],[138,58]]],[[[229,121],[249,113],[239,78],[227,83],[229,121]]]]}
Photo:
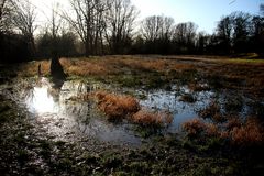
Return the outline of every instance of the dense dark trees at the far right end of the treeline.
{"type": "Polygon", "coordinates": [[[263,54],[264,18],[233,12],[218,22],[216,36],[215,45],[220,54],[263,54]]]}

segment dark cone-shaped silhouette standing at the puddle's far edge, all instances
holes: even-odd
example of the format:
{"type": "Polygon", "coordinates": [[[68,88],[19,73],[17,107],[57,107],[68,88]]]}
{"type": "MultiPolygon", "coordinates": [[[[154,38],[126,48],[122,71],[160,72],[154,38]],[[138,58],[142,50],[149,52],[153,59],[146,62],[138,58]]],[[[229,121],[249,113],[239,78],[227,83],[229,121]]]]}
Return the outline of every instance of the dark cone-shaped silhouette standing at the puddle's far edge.
{"type": "Polygon", "coordinates": [[[59,63],[58,56],[54,55],[51,63],[51,75],[55,88],[61,88],[66,80],[66,74],[59,63]]]}

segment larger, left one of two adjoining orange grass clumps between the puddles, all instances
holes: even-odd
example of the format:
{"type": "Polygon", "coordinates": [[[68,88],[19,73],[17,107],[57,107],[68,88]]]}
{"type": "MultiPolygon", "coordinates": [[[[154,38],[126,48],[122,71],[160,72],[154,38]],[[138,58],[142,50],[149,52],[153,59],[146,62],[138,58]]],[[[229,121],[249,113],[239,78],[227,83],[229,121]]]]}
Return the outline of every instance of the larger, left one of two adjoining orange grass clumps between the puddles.
{"type": "Polygon", "coordinates": [[[103,111],[109,119],[122,119],[140,110],[139,101],[131,96],[97,91],[95,97],[98,100],[99,109],[103,111]]]}

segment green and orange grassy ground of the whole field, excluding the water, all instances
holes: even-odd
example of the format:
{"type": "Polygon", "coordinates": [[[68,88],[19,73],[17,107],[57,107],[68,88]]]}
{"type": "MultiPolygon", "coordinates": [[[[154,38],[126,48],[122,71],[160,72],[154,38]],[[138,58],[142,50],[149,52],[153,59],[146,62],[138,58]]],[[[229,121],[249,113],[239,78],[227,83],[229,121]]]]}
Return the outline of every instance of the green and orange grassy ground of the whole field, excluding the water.
{"type": "MultiPolygon", "coordinates": [[[[68,79],[97,80],[116,87],[146,90],[170,91],[175,89],[173,85],[186,86],[190,91],[179,92],[178,97],[188,105],[199,101],[196,94],[208,90],[213,91],[219,101],[211,101],[198,109],[199,118],[184,124],[186,135],[183,136],[164,133],[166,127],[173,123],[170,114],[144,109],[135,96],[131,96],[133,94],[98,91],[73,97],[75,101],[94,99],[97,108],[111,120],[135,123],[135,133],[147,139],[147,143],[130,147],[111,145],[92,138],[57,141],[44,124],[32,122],[26,118],[29,114],[25,110],[0,96],[1,174],[263,174],[264,130],[260,120],[264,97],[262,59],[103,56],[62,58],[61,63],[68,79]],[[235,94],[227,95],[231,90],[235,94]],[[248,102],[246,98],[256,102],[248,102]],[[241,119],[244,111],[246,116],[242,114],[241,119]]],[[[34,77],[40,64],[42,75],[48,76],[48,61],[21,64],[14,73],[18,72],[19,77],[34,77]]],[[[146,98],[145,95],[139,97],[146,98]]]]}

